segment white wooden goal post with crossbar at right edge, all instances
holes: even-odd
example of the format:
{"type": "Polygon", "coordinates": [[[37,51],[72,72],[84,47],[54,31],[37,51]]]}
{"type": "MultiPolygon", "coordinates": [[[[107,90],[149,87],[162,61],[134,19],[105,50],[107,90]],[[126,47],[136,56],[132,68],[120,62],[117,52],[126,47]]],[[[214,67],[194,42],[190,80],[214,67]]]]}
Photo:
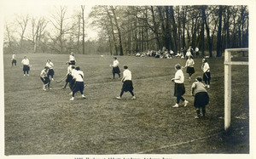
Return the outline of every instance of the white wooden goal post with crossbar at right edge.
{"type": "Polygon", "coordinates": [[[231,61],[232,52],[248,51],[248,48],[228,48],[224,52],[224,129],[231,122],[231,65],[249,65],[249,62],[231,61]]]}

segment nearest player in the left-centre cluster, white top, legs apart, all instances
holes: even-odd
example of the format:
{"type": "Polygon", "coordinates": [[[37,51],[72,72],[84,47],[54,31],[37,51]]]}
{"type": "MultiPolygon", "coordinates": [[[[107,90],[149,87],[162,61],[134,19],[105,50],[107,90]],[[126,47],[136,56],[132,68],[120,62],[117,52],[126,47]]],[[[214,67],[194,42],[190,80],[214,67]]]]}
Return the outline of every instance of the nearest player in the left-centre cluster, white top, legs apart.
{"type": "Polygon", "coordinates": [[[74,94],[76,92],[79,92],[82,94],[82,98],[86,99],[86,97],[84,96],[84,72],[80,71],[80,67],[77,66],[75,68],[76,71],[74,71],[73,73],[73,79],[75,80],[74,83],[74,87],[73,87],[73,94],[72,94],[72,98],[70,100],[74,99],[74,94]]]}

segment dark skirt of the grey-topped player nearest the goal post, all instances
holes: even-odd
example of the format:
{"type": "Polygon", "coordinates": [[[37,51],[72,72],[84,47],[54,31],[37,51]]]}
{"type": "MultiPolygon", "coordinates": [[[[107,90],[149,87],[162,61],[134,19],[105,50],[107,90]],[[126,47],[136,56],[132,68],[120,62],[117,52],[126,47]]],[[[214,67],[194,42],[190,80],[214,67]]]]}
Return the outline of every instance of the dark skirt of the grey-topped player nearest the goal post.
{"type": "Polygon", "coordinates": [[[199,92],[195,94],[194,106],[195,108],[200,108],[201,106],[208,105],[209,95],[207,92],[199,92]]]}

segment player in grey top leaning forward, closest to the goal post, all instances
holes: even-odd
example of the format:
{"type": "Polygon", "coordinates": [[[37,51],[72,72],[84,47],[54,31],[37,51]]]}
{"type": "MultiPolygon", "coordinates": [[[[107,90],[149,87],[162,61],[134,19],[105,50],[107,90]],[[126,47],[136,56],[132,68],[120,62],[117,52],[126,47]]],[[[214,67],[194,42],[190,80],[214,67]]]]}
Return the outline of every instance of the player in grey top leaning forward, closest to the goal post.
{"type": "Polygon", "coordinates": [[[206,116],[206,105],[209,103],[209,95],[207,94],[205,85],[201,82],[202,78],[196,77],[195,81],[191,87],[191,95],[195,95],[194,106],[197,115],[195,118],[198,119],[201,116],[201,112],[202,116],[206,116]]]}

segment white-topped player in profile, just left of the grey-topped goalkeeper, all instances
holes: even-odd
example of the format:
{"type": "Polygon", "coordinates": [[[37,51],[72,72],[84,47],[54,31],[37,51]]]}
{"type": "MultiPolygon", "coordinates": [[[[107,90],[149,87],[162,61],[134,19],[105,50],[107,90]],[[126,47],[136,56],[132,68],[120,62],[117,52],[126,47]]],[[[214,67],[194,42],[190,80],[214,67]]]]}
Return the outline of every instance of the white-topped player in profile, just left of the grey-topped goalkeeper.
{"type": "Polygon", "coordinates": [[[184,87],[184,75],[183,71],[181,70],[181,65],[177,64],[175,65],[175,77],[172,78],[172,82],[175,82],[174,85],[174,96],[177,97],[176,99],[176,105],[173,105],[172,107],[177,108],[179,101],[182,100],[184,102],[184,106],[187,106],[189,101],[186,99],[183,99],[183,94],[185,94],[185,87],[184,87]]]}

